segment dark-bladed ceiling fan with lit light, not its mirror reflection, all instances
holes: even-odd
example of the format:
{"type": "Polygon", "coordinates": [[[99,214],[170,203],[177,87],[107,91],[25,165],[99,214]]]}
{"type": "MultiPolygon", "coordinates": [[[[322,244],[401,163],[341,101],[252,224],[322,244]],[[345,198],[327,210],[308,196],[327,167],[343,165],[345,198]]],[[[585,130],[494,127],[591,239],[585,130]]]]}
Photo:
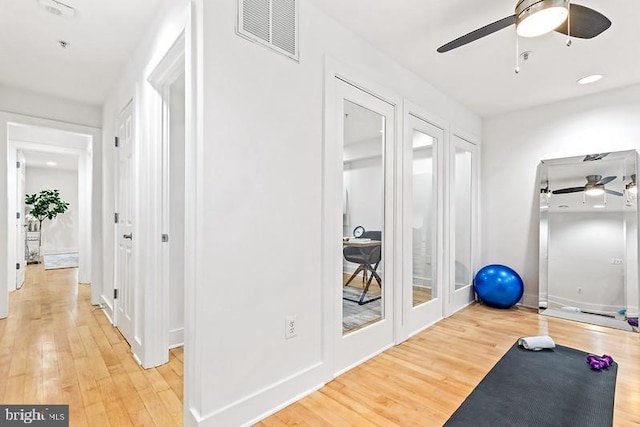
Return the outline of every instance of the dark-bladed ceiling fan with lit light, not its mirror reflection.
{"type": "Polygon", "coordinates": [[[518,0],[515,13],[499,21],[440,46],[439,53],[448,52],[511,25],[521,37],[537,37],[557,31],[580,39],[591,39],[611,26],[611,21],[591,8],[569,0],[518,0]]]}

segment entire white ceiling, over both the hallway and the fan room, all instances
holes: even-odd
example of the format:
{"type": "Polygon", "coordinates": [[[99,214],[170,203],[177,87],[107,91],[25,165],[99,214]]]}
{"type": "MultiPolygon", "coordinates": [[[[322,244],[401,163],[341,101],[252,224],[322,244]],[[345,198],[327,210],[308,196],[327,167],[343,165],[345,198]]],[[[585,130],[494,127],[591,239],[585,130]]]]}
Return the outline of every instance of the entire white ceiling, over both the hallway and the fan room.
{"type": "MultiPolygon", "coordinates": [[[[38,0],[0,0],[0,84],[101,105],[165,0],[61,1],[76,8],[75,17],[54,16],[38,0]]],[[[482,117],[640,82],[640,6],[634,0],[580,0],[606,15],[611,28],[592,40],[575,39],[570,48],[557,33],[520,39],[520,51],[533,53],[517,75],[513,27],[436,53],[512,15],[515,0],[310,1],[482,117]],[[575,83],[592,73],[605,78],[575,83]]]]}

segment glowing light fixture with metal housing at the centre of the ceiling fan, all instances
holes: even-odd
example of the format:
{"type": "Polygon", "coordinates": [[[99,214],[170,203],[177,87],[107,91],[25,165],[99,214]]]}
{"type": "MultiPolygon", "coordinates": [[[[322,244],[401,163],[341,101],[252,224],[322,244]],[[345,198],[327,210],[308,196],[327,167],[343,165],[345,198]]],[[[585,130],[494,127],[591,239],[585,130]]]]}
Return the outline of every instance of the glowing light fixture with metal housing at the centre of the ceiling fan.
{"type": "Polygon", "coordinates": [[[569,16],[567,0],[522,0],[516,6],[520,37],[537,37],[558,28],[569,16]]]}

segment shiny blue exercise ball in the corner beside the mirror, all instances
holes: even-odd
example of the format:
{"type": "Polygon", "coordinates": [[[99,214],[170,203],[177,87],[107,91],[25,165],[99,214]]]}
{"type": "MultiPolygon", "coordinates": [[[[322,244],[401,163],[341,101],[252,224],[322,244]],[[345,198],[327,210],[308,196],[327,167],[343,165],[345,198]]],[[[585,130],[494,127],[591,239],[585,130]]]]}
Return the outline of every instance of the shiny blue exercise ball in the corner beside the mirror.
{"type": "Polygon", "coordinates": [[[518,273],[506,265],[491,264],[476,273],[473,289],[488,306],[509,308],[522,298],[524,283],[518,273]]]}

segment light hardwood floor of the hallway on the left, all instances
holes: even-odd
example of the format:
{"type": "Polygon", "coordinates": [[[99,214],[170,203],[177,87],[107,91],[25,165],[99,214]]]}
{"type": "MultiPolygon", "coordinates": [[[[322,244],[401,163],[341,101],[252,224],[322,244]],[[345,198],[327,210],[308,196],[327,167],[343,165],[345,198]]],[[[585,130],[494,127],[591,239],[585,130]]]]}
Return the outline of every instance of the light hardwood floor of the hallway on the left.
{"type": "Polygon", "coordinates": [[[68,404],[71,426],[181,426],[182,348],[142,369],[77,269],[27,267],[0,320],[0,402],[68,404]]]}

